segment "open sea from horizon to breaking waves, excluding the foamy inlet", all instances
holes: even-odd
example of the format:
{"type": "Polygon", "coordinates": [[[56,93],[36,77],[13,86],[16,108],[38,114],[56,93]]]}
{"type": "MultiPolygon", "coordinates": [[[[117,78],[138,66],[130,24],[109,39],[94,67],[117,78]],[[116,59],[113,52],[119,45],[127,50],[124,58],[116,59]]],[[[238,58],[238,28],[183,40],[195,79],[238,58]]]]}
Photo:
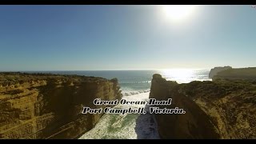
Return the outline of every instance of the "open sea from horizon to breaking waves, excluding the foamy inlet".
{"type": "MultiPolygon", "coordinates": [[[[42,71],[33,71],[42,73],[42,71]]],[[[78,74],[101,78],[118,78],[122,94],[130,96],[150,92],[153,74],[161,74],[166,80],[187,83],[194,80],[206,81],[210,69],[170,69],[170,70],[74,70],[74,71],[43,71],[51,74],[78,74]]]]}

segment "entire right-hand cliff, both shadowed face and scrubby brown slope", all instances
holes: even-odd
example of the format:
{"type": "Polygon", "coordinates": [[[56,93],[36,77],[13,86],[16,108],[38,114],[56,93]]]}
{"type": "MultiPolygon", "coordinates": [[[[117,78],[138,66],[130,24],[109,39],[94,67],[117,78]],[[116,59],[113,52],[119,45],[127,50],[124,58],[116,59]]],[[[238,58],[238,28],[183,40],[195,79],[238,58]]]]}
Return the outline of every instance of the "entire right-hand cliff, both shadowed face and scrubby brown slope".
{"type": "Polygon", "coordinates": [[[154,74],[150,98],[173,98],[186,114],[155,114],[161,138],[256,138],[256,83],[168,82],[154,74]]]}

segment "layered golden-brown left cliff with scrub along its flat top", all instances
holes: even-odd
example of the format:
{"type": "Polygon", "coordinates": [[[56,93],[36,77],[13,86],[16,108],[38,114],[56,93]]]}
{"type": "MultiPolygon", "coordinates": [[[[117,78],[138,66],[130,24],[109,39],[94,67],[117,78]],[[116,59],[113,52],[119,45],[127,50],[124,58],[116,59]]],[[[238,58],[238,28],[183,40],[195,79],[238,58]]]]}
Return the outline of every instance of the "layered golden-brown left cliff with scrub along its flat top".
{"type": "Polygon", "coordinates": [[[0,138],[78,138],[102,114],[94,98],[121,98],[118,80],[54,74],[0,74],[0,138]]]}

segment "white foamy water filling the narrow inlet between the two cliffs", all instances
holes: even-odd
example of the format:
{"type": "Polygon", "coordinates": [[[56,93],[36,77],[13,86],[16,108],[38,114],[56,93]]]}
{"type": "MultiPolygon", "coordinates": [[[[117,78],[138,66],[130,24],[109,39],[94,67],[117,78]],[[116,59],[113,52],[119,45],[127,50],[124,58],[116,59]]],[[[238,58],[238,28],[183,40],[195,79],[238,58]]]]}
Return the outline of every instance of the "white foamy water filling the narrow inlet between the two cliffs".
{"type": "MultiPolygon", "coordinates": [[[[148,101],[149,92],[124,96],[128,101],[148,101]]],[[[145,107],[145,105],[117,105],[114,108],[145,107]]],[[[148,107],[146,107],[147,109],[148,107]]],[[[157,124],[153,114],[104,114],[94,128],[79,139],[158,139],[157,124]]]]}

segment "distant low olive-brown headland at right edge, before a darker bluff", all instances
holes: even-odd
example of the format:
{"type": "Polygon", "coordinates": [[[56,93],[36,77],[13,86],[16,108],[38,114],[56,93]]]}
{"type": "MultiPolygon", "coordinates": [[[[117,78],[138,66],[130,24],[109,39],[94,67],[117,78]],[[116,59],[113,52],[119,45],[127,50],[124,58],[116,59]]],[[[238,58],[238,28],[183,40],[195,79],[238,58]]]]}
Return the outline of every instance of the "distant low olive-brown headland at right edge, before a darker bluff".
{"type": "Polygon", "coordinates": [[[256,67],[228,69],[218,72],[212,78],[213,81],[218,79],[242,79],[242,80],[256,80],[256,67]]]}

